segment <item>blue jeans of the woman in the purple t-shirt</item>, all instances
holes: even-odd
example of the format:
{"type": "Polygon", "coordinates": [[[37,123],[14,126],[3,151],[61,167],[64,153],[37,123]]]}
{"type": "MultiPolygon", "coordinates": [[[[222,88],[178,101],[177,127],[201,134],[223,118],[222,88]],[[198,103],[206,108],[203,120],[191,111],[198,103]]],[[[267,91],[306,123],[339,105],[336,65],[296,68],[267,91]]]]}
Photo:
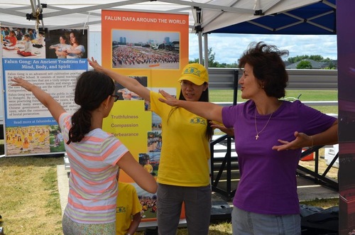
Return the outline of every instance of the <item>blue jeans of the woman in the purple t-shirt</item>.
{"type": "Polygon", "coordinates": [[[300,235],[301,217],[300,214],[256,214],[234,207],[231,226],[233,235],[300,235]]]}

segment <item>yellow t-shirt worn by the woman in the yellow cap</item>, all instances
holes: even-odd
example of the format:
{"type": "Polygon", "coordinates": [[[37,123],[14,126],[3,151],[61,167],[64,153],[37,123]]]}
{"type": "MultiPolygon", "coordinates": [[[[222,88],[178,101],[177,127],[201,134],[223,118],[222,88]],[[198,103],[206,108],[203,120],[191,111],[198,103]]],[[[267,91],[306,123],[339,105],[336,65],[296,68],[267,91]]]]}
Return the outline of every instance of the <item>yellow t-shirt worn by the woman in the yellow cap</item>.
{"type": "Polygon", "coordinates": [[[151,92],[151,111],[160,116],[163,126],[157,181],[186,187],[209,185],[207,119],[164,104],[158,97],[162,96],[151,92]]]}

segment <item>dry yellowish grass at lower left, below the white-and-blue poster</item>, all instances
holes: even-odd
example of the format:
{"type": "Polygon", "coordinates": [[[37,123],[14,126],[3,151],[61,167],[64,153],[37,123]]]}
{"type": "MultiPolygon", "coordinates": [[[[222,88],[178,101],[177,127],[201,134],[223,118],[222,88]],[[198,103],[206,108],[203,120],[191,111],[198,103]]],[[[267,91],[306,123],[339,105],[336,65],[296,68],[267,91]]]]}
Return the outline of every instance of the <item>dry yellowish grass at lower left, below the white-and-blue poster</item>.
{"type": "Polygon", "coordinates": [[[57,165],[62,157],[0,158],[0,214],[5,234],[62,234],[57,165]]]}

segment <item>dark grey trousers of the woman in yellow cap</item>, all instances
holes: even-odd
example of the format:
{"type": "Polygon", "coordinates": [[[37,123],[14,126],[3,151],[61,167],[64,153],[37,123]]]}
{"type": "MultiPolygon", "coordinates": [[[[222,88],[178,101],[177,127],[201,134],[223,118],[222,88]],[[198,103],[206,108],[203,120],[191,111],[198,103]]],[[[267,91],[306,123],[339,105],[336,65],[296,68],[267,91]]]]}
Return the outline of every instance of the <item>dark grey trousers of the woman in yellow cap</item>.
{"type": "Polygon", "coordinates": [[[211,187],[182,187],[158,184],[158,233],[175,235],[182,202],[185,203],[187,231],[190,235],[207,235],[211,219],[211,187]]]}

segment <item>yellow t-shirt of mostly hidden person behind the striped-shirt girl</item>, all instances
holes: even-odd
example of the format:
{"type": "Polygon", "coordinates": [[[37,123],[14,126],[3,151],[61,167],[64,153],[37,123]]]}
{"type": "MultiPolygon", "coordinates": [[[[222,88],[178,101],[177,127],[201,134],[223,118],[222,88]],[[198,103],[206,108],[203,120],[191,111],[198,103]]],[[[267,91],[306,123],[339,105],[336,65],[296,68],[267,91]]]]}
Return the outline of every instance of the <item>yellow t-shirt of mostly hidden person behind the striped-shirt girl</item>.
{"type": "Polygon", "coordinates": [[[136,188],[126,182],[119,182],[119,195],[116,206],[116,235],[124,235],[129,230],[131,217],[141,212],[136,188]]]}

